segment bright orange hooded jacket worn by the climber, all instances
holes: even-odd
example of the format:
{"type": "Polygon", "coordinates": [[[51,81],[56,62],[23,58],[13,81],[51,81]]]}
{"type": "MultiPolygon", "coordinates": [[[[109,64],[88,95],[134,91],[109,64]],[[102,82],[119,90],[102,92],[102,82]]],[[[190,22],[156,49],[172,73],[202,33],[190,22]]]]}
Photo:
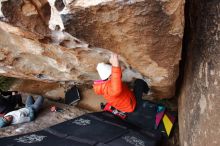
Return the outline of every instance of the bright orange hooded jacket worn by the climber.
{"type": "Polygon", "coordinates": [[[122,112],[133,112],[136,106],[136,99],[133,92],[122,83],[121,68],[112,66],[110,80],[98,82],[93,85],[96,94],[104,98],[116,109],[122,112]]]}

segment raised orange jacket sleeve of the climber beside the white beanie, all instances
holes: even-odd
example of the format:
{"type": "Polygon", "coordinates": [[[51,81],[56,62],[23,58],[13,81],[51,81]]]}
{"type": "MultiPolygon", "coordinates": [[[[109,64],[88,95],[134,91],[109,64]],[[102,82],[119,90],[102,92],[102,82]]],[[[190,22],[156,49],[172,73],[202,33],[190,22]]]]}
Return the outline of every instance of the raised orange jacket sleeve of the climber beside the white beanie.
{"type": "Polygon", "coordinates": [[[122,91],[121,68],[112,66],[111,84],[108,88],[108,95],[116,97],[122,91]]]}

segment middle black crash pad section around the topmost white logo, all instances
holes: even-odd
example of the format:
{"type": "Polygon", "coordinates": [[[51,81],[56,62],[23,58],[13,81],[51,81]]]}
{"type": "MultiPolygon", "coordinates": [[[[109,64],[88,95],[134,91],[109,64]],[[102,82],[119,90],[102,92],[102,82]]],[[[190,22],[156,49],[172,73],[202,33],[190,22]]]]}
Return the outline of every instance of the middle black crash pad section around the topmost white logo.
{"type": "Polygon", "coordinates": [[[52,126],[50,129],[97,142],[107,142],[127,132],[127,129],[105,122],[91,114],[52,126]]]}

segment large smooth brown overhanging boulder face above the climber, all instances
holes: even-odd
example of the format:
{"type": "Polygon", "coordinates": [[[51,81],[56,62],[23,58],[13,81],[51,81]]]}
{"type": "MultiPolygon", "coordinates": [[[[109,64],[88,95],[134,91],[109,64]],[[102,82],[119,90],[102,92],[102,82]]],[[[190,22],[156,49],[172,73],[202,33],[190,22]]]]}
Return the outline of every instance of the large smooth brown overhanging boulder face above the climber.
{"type": "Polygon", "coordinates": [[[64,15],[67,31],[119,53],[149,79],[159,97],[171,97],[181,57],[184,1],[84,2],[69,5],[75,12],[64,15]]]}

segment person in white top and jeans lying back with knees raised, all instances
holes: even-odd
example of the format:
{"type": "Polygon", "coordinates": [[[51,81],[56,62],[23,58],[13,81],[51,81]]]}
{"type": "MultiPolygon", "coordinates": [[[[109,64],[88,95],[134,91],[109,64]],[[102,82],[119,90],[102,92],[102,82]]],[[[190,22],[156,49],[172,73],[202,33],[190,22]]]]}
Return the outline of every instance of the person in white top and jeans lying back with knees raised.
{"type": "Polygon", "coordinates": [[[28,96],[25,108],[9,112],[0,118],[0,127],[33,121],[43,102],[44,98],[42,96],[39,96],[36,101],[34,101],[32,96],[28,96]]]}

